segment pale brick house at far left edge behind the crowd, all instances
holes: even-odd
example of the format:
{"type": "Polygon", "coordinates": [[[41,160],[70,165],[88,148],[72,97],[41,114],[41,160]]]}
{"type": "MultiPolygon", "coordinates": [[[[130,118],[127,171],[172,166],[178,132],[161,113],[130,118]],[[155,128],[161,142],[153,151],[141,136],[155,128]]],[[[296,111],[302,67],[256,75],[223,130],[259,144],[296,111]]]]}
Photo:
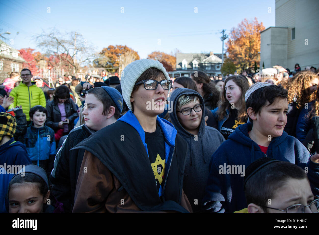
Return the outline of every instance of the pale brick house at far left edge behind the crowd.
{"type": "Polygon", "coordinates": [[[0,40],[0,84],[9,77],[11,72],[20,72],[23,68],[24,59],[19,57],[20,52],[4,41],[0,40]]]}

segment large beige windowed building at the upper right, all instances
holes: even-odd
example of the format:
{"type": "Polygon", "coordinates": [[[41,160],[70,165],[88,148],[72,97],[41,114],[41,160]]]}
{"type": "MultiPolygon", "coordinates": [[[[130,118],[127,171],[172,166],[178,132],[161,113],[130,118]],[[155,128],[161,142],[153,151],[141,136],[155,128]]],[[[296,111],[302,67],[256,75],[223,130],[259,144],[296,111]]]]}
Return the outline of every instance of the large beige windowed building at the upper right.
{"type": "Polygon", "coordinates": [[[319,68],[318,10],[318,0],[276,0],[276,26],[261,32],[260,65],[319,68]]]}

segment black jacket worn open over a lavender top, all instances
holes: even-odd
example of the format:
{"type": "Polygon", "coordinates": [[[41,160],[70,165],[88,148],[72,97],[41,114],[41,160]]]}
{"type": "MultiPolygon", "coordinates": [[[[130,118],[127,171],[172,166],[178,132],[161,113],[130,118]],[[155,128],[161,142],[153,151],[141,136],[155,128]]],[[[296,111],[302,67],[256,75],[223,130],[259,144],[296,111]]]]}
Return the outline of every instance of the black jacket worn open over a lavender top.
{"type": "MultiPolygon", "coordinates": [[[[73,100],[69,99],[65,101],[64,105],[66,118],[70,120],[68,124],[70,132],[74,127],[73,122],[78,117],[78,112],[73,100]]],[[[61,113],[58,104],[55,103],[54,100],[52,100],[47,104],[46,109],[48,110],[46,124],[48,127],[51,127],[54,132],[56,132],[59,129],[58,126],[59,122],[61,121],[61,113]]]]}

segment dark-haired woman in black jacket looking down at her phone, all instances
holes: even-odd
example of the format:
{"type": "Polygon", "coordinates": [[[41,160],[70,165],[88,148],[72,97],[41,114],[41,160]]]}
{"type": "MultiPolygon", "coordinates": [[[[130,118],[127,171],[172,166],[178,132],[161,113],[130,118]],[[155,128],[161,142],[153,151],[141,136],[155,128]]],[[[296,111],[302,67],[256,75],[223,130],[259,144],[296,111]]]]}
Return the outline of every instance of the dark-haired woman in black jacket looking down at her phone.
{"type": "Polygon", "coordinates": [[[47,106],[48,116],[46,124],[54,132],[63,129],[63,135],[69,134],[74,127],[74,120],[78,117],[77,108],[70,99],[69,89],[62,85],[56,88],[54,99],[47,106]]]}

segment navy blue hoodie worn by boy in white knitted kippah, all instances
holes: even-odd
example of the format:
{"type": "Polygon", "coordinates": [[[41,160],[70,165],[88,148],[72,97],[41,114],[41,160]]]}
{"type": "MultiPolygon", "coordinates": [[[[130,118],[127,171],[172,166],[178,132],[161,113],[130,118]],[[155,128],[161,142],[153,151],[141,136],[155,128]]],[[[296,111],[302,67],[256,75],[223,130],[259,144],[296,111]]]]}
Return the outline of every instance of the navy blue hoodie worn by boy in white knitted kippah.
{"type": "Polygon", "coordinates": [[[319,195],[319,164],[310,161],[310,153],[295,137],[283,131],[280,137],[273,137],[266,154],[250,139],[248,132],[252,123],[242,124],[213,154],[209,166],[208,182],[203,199],[204,208],[210,212],[233,213],[247,207],[243,189],[244,169],[262,157],[289,161],[308,169],[308,179],[315,196],[319,195]],[[232,166],[237,172],[228,172],[232,166]],[[239,166],[243,171],[239,172],[239,166]],[[307,168],[306,168],[307,167],[307,168]],[[231,173],[231,174],[230,174],[231,173]]]}

